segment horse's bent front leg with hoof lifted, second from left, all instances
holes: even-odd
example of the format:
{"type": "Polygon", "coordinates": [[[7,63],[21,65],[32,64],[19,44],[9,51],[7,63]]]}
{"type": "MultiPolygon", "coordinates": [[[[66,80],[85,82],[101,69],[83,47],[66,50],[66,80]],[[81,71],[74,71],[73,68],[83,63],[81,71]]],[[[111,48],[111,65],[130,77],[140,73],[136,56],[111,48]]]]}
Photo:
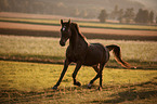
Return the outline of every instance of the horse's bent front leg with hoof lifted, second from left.
{"type": "Polygon", "coordinates": [[[74,84],[79,86],[79,87],[81,86],[81,83],[79,81],[76,81],[76,75],[78,70],[80,69],[80,67],[81,67],[81,63],[77,63],[76,68],[73,73],[74,84]]]}

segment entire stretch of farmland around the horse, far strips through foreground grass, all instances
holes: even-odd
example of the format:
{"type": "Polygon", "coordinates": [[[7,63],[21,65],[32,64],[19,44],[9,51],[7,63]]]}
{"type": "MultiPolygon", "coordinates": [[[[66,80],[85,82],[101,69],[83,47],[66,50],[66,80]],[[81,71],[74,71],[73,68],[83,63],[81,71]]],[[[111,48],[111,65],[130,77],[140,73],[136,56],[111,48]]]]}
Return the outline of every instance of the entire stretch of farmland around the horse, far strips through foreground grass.
{"type": "Polygon", "coordinates": [[[58,90],[54,91],[52,87],[60,78],[68,46],[68,43],[66,47],[58,44],[60,21],[49,17],[36,18],[36,16],[31,18],[28,14],[27,17],[25,16],[0,17],[1,24],[4,24],[1,25],[0,32],[5,31],[0,35],[0,103],[155,104],[157,102],[157,42],[155,39],[157,27],[155,25],[75,21],[90,38],[88,39],[90,43],[118,44],[121,48],[122,58],[138,68],[122,68],[110,52],[110,60],[103,70],[102,91],[97,90],[99,80],[91,89],[87,89],[87,84],[95,76],[95,72],[87,66],[82,66],[77,75],[82,86],[74,86],[71,78],[74,64],[69,66],[58,90]],[[112,29],[107,31],[106,28],[112,29]],[[49,35],[45,37],[48,31],[49,35]],[[11,36],[8,36],[8,32],[11,36]],[[95,39],[97,37],[100,38],[95,39]],[[144,38],[141,39],[141,37],[144,38]]]}

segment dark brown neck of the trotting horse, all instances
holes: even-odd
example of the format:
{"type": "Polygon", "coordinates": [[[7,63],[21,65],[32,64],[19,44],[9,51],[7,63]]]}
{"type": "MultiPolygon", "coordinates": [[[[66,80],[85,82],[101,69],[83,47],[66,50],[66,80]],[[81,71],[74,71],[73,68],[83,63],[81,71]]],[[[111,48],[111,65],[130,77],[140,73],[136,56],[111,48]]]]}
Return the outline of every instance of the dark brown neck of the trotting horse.
{"type": "Polygon", "coordinates": [[[73,49],[78,50],[78,48],[87,48],[88,42],[86,41],[84,38],[82,38],[80,35],[78,35],[79,32],[77,32],[76,30],[71,30],[71,37],[69,39],[69,46],[73,49]]]}

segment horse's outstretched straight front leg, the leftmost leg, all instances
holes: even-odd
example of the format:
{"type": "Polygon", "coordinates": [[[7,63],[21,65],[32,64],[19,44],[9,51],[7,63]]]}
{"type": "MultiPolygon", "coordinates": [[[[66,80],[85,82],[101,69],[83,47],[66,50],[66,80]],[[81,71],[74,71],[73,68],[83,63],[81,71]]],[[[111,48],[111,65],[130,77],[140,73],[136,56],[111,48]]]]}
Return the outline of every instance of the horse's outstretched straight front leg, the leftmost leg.
{"type": "Polygon", "coordinates": [[[57,87],[60,86],[60,83],[61,83],[61,81],[62,81],[62,79],[63,79],[63,77],[64,77],[64,75],[65,75],[69,64],[70,64],[70,62],[68,60],[65,60],[65,62],[64,62],[64,68],[62,70],[60,79],[58,79],[58,81],[56,82],[56,84],[52,89],[54,89],[54,90],[57,89],[57,87]]]}

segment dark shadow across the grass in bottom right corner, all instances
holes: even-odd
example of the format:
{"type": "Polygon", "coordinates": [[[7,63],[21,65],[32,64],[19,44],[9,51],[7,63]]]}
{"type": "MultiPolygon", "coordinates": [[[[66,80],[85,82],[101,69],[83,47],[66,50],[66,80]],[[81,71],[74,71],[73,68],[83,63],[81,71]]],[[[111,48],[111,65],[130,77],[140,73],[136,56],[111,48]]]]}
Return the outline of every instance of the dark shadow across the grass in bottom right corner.
{"type": "MultiPolygon", "coordinates": [[[[156,80],[157,77],[154,78],[156,80]]],[[[153,98],[157,98],[157,81],[154,82],[152,81],[146,81],[142,82],[140,84],[131,84],[131,86],[121,86],[120,89],[125,88],[127,90],[125,91],[118,91],[118,93],[114,93],[110,95],[109,100],[101,100],[101,101],[91,101],[90,103],[123,103],[126,101],[134,101],[134,100],[148,100],[153,98]]]]}

